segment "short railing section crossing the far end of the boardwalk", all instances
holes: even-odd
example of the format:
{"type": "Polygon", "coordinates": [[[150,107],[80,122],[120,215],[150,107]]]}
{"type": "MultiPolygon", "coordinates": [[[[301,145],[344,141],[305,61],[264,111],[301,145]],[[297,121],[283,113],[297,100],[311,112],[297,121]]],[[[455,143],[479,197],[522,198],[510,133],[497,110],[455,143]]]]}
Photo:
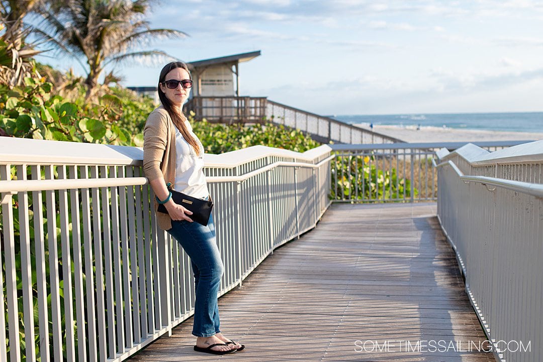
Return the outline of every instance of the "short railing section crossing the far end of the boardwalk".
{"type": "MultiPolygon", "coordinates": [[[[501,149],[526,141],[479,142],[501,149]]],[[[462,142],[331,145],[334,202],[414,202],[437,199],[437,173],[432,167],[439,148],[456,149],[462,142]]]]}

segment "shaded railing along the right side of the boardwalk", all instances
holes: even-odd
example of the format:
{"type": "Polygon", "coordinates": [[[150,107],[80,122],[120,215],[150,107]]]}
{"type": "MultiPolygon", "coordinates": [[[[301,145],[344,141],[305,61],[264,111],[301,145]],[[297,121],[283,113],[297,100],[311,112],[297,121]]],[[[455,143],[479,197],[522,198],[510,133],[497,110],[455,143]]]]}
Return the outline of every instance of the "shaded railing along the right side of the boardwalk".
{"type": "Polygon", "coordinates": [[[543,141],[437,156],[439,221],[496,358],[543,360],[543,141]]]}

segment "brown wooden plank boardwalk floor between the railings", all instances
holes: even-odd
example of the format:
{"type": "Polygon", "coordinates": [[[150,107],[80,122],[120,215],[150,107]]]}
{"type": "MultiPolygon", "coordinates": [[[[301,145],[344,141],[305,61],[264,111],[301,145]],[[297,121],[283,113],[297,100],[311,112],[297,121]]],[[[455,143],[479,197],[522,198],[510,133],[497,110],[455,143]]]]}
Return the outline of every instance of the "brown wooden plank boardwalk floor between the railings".
{"type": "Polygon", "coordinates": [[[194,352],[190,319],[133,359],[494,361],[477,351],[486,338],[435,214],[434,203],[333,204],[219,299],[221,329],[245,351],[194,352]]]}

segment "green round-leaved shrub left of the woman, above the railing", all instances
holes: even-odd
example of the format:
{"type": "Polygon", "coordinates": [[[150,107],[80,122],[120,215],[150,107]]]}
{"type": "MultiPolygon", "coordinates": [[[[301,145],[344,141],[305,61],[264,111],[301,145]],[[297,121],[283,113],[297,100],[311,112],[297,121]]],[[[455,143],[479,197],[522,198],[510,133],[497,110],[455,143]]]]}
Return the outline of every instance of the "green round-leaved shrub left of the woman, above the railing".
{"type": "Polygon", "coordinates": [[[20,138],[142,146],[154,105],[128,92],[112,89],[98,104],[65,102],[45,77],[27,77],[24,86],[0,85],[0,128],[20,138]]]}

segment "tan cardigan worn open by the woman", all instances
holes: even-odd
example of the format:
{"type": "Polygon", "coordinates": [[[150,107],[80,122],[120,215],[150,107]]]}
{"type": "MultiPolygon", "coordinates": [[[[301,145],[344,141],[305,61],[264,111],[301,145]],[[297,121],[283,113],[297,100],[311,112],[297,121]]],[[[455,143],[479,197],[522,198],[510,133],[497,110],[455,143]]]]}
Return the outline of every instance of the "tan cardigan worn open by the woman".
{"type": "MultiPolygon", "coordinates": [[[[143,172],[149,181],[162,176],[175,184],[175,126],[168,111],[162,107],[149,114],[143,128],[143,172]]],[[[159,204],[154,200],[155,211],[159,204]]],[[[168,214],[156,213],[156,222],[163,230],[172,228],[168,214]]]]}

